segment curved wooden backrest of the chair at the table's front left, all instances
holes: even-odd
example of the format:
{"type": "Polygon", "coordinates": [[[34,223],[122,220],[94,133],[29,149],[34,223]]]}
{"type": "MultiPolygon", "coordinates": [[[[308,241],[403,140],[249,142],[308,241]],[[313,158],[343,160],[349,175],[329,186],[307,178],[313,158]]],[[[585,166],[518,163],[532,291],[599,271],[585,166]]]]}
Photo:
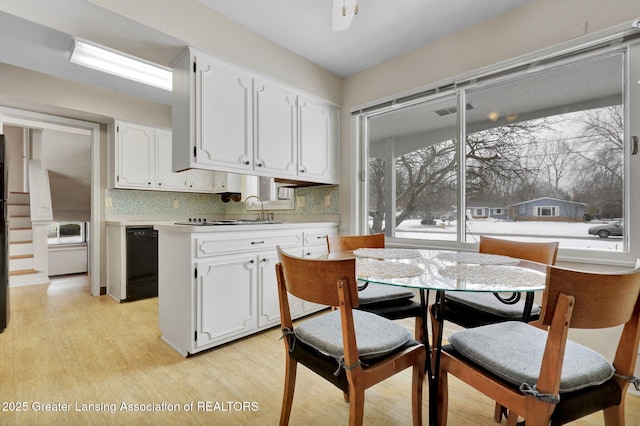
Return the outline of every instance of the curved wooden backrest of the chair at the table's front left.
{"type": "MultiPolygon", "coordinates": [[[[337,282],[348,282],[351,305],[358,306],[356,261],[351,259],[309,259],[289,255],[278,249],[276,265],[278,290],[321,305],[340,306],[337,282]]],[[[286,293],[285,293],[286,294],[286,293]]],[[[281,299],[281,303],[283,300],[281,299]]]]}

